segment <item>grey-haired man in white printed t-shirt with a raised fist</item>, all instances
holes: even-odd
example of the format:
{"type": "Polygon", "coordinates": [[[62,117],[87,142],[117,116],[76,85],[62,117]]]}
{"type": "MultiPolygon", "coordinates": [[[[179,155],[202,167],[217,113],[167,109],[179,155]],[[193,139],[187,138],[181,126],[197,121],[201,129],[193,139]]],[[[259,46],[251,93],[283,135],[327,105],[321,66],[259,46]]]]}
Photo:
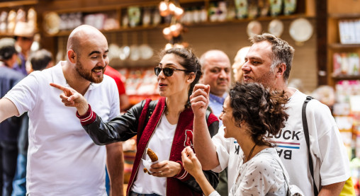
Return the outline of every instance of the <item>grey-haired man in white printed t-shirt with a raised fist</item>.
{"type": "MultiPolygon", "coordinates": [[[[262,83],[271,89],[285,91],[289,101],[286,104],[289,115],[286,127],[278,135],[269,135],[276,142],[276,149],[290,183],[297,185],[305,195],[314,195],[313,178],[308,166],[308,151],[301,109],[306,95],[287,86],[293,60],[293,47],[274,35],[254,35],[253,43],[242,66],[244,82],[262,83]]],[[[203,84],[195,86],[191,96],[192,108],[207,107],[208,96],[203,84]]],[[[311,100],[306,110],[310,135],[310,154],[313,159],[314,178],[319,195],[339,195],[345,181],[350,177],[349,158],[339,129],[329,108],[317,100],[311,100]]],[[[213,139],[208,135],[203,116],[194,113],[193,146],[203,170],[228,171],[229,190],[235,182],[237,160],[243,152],[236,140],[224,138],[224,127],[220,127],[213,139]],[[196,123],[195,123],[196,122],[196,123]]]]}

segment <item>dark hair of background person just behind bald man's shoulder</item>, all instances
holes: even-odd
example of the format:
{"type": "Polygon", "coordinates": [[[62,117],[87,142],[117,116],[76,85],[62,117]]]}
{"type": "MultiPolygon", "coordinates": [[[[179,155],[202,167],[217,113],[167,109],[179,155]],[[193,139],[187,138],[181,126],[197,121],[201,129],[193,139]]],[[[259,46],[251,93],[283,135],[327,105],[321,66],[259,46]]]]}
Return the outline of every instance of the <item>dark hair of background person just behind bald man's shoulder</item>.
{"type": "Polygon", "coordinates": [[[52,54],[45,49],[38,50],[30,56],[31,67],[34,71],[45,69],[50,62],[52,62],[52,54]]]}

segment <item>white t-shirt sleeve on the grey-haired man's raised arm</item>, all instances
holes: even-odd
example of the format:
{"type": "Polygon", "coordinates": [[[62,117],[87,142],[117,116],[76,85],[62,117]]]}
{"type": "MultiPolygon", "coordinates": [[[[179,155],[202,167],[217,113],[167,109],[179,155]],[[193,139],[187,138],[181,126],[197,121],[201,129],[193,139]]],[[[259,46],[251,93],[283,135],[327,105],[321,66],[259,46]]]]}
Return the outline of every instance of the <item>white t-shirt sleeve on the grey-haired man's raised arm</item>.
{"type": "Polygon", "coordinates": [[[216,168],[213,168],[214,172],[221,172],[227,168],[229,163],[229,154],[230,154],[230,141],[224,137],[224,126],[222,125],[219,128],[219,131],[212,138],[213,144],[216,147],[216,153],[218,154],[220,165],[216,168]]]}

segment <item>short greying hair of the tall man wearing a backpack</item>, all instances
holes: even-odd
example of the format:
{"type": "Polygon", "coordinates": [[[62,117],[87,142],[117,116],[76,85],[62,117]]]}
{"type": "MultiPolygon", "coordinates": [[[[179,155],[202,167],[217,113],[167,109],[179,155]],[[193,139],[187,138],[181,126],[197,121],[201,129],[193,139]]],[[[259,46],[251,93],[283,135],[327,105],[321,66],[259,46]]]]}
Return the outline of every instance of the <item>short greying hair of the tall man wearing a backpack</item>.
{"type": "Polygon", "coordinates": [[[263,33],[262,35],[254,35],[252,38],[249,38],[252,43],[258,43],[267,41],[271,43],[272,50],[272,64],[271,69],[274,70],[276,66],[281,63],[286,64],[286,70],[283,72],[284,81],[288,81],[288,76],[290,76],[291,64],[293,62],[293,55],[295,50],[288,42],[281,40],[275,35],[269,33],[263,33]]]}

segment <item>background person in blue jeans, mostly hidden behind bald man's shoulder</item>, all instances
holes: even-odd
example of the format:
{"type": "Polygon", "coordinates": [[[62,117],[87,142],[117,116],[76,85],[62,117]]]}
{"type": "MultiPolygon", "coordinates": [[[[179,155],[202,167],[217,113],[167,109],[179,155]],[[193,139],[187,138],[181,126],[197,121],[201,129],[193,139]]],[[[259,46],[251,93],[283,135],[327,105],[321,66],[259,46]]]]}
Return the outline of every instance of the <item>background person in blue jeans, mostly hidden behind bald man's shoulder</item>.
{"type": "MultiPolygon", "coordinates": [[[[54,66],[51,52],[42,49],[29,57],[30,72],[42,71],[43,69],[54,66]]],[[[28,125],[29,118],[27,114],[24,114],[22,125],[28,125]]],[[[28,155],[28,126],[22,126],[18,137],[18,160],[16,165],[16,174],[13,178],[13,192],[11,196],[23,196],[26,195],[26,163],[28,155]]]]}

